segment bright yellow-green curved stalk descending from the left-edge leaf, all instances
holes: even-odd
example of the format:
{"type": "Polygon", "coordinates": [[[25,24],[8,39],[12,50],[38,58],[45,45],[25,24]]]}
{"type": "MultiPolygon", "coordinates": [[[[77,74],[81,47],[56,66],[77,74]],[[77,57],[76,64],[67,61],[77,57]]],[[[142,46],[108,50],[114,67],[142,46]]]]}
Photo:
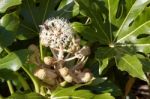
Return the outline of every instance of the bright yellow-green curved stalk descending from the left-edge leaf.
{"type": "Polygon", "coordinates": [[[40,92],[40,87],[39,87],[39,83],[38,83],[37,79],[24,66],[22,66],[22,68],[29,75],[29,77],[31,78],[31,80],[34,84],[35,92],[39,93],[40,92]]]}

